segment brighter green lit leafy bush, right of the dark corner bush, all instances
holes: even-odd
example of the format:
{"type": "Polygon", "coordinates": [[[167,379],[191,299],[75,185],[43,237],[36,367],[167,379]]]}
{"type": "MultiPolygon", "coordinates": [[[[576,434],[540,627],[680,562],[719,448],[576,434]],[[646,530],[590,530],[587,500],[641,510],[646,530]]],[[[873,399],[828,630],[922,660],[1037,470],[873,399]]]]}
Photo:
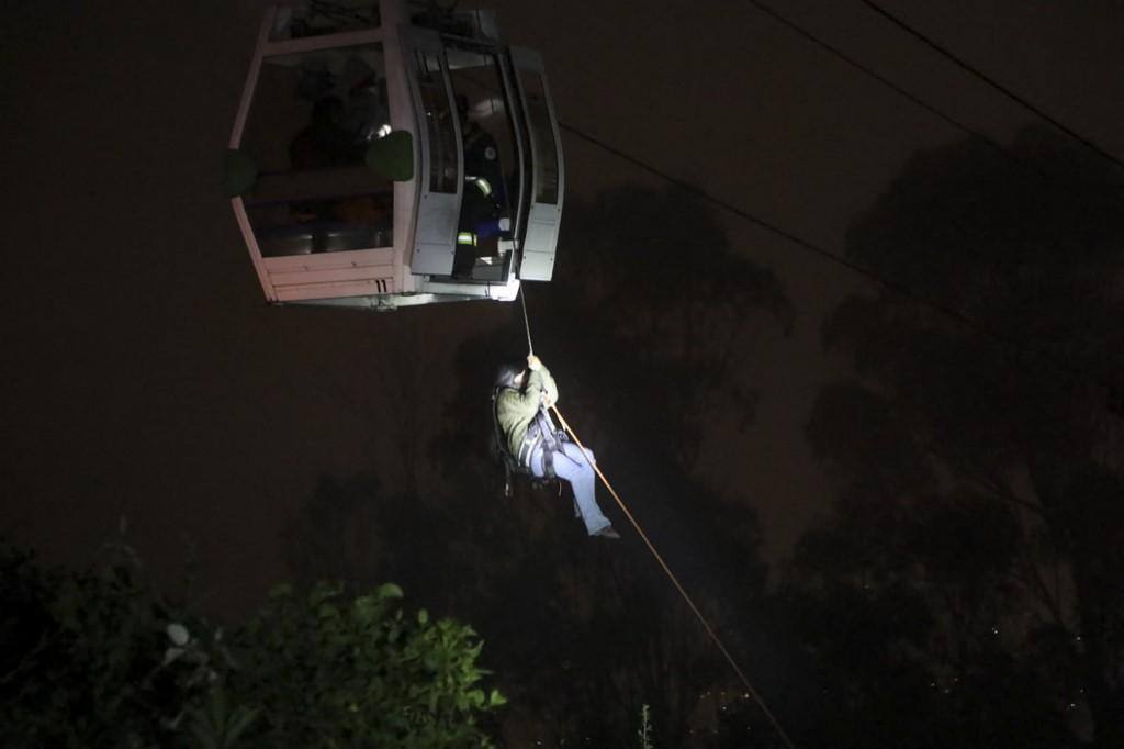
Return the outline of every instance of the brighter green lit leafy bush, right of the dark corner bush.
{"type": "Polygon", "coordinates": [[[471,628],[407,616],[402,592],[383,585],[350,598],[321,583],[288,586],[239,632],[232,692],[260,706],[270,743],[352,747],[488,746],[475,714],[504,704],[479,684],[482,643],[471,628]],[[299,688],[293,688],[299,685],[299,688]]]}

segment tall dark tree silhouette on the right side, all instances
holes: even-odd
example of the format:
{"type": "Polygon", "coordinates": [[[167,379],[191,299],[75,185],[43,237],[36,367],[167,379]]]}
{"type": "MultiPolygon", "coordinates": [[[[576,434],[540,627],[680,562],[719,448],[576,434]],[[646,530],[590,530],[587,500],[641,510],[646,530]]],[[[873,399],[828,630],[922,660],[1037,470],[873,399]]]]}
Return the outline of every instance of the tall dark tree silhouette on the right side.
{"type": "Polygon", "coordinates": [[[914,156],[847,254],[915,298],[824,326],[858,379],[807,425],[842,488],[790,594],[855,746],[860,718],[897,746],[1124,746],[1122,193],[1048,134],[1012,151],[1051,177],[914,156]]]}

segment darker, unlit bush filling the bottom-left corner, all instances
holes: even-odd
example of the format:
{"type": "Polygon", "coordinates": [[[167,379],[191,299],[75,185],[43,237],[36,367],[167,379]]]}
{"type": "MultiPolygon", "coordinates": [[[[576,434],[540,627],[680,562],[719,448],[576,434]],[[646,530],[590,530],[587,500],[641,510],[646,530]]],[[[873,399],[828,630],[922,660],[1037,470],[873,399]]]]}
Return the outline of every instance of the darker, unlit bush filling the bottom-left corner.
{"type": "Polygon", "coordinates": [[[9,746],[165,743],[206,692],[212,656],[166,630],[184,622],[184,632],[201,631],[201,620],[164,599],[127,548],[109,551],[97,570],[69,574],[0,549],[9,746]]]}

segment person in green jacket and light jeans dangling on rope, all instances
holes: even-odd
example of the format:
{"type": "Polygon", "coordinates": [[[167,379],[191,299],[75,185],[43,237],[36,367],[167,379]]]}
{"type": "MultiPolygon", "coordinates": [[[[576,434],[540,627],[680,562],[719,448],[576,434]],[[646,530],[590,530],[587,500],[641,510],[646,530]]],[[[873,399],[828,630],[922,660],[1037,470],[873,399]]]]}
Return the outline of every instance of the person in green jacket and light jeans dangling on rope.
{"type": "Polygon", "coordinates": [[[527,357],[527,367],[500,369],[496,395],[496,421],[505,446],[524,470],[538,478],[561,478],[573,489],[574,506],[589,535],[619,539],[597,504],[593,453],[559,435],[546,409],[558,403],[559,389],[538,357],[527,357]]]}

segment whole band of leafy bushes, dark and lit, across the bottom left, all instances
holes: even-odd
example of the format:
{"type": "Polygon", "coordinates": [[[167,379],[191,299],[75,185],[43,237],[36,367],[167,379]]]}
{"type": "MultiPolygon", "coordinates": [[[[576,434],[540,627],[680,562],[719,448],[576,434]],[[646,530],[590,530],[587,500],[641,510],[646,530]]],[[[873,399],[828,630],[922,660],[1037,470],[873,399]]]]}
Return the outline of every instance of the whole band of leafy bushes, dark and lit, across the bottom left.
{"type": "Polygon", "coordinates": [[[245,625],[170,603],[126,547],[88,572],[0,548],[0,724],[12,747],[487,747],[471,628],[392,584],[280,586],[245,625]]]}

